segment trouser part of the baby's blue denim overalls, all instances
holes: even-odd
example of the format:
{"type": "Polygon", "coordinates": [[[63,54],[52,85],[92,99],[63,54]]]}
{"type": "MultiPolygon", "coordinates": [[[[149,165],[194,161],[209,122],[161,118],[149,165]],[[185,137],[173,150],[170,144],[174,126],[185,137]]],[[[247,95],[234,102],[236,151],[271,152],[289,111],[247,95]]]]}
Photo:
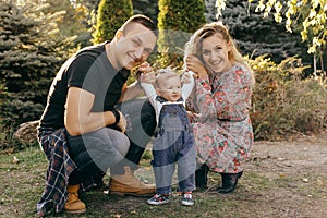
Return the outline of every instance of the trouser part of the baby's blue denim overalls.
{"type": "Polygon", "coordinates": [[[195,190],[196,149],[191,131],[180,128],[161,130],[154,140],[153,155],[152,164],[158,194],[171,192],[175,165],[178,166],[179,191],[195,190]]]}

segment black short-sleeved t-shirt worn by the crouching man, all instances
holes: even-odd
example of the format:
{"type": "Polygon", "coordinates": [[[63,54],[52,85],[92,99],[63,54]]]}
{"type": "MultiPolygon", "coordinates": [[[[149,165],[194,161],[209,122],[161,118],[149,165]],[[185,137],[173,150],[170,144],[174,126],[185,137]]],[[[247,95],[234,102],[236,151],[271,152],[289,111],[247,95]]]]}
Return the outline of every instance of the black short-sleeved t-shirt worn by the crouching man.
{"type": "Polygon", "coordinates": [[[92,112],[113,109],[130,71],[113,69],[106,55],[105,44],[82,49],[62,65],[52,82],[40,128],[57,130],[64,126],[69,87],[78,87],[95,96],[92,112]]]}

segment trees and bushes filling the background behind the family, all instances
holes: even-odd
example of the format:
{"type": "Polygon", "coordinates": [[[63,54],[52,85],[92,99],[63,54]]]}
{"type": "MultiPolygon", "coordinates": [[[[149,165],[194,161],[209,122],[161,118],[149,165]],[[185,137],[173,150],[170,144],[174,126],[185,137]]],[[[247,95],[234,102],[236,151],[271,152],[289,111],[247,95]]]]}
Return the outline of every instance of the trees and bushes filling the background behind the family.
{"type": "Polygon", "coordinates": [[[190,35],[222,21],[255,73],[255,138],[318,133],[327,123],[326,10],[319,0],[1,0],[0,150],[37,144],[13,135],[40,118],[61,64],[82,47],[110,40],[136,13],[158,25],[158,50],[150,58],[156,68],[181,69],[190,35]],[[313,28],[303,33],[307,17],[313,28]]]}

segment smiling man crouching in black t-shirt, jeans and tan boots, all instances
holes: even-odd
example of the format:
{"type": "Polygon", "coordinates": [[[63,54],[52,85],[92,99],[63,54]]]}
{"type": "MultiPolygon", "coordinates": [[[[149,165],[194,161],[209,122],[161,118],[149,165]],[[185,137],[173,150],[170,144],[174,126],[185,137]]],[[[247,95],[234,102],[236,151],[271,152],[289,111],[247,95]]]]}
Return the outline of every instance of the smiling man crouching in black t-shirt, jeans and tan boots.
{"type": "Polygon", "coordinates": [[[155,192],[133,174],[156,126],[154,109],[146,100],[132,100],[143,89],[140,82],[128,87],[126,80],[140,65],[142,81],[154,82],[153,69],[145,61],[156,40],[155,24],[134,15],[111,41],[84,48],[62,65],[38,128],[50,164],[38,216],[47,213],[50,202],[56,211],[85,213],[77,194],[81,184],[109,167],[111,193],[138,196],[155,192]],[[126,114],[131,118],[129,131],[126,114]]]}

